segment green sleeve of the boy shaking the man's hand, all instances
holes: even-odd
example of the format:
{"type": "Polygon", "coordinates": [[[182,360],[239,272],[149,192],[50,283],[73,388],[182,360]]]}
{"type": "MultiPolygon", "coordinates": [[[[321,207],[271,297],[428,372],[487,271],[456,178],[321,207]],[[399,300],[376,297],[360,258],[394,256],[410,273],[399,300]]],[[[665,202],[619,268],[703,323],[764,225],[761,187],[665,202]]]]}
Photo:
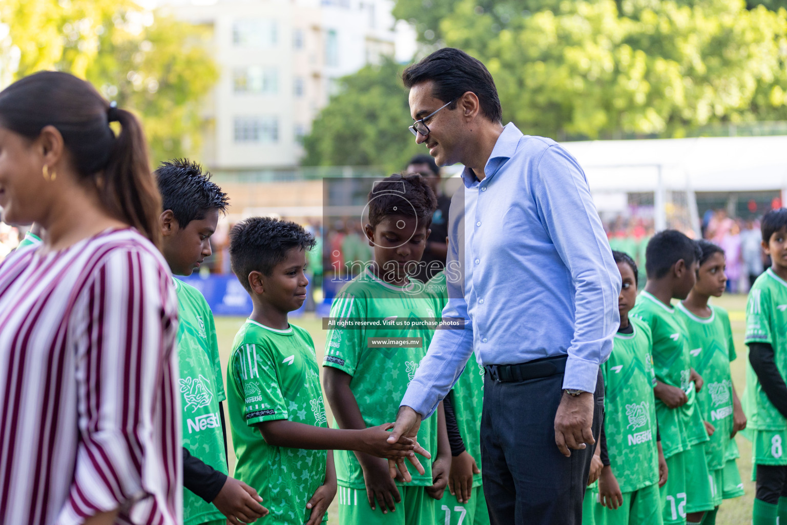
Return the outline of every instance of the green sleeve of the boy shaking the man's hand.
{"type": "Polygon", "coordinates": [[[235,383],[242,390],[243,418],[250,426],[289,419],[276,374],[275,360],[264,345],[242,344],[231,357],[235,383]]]}

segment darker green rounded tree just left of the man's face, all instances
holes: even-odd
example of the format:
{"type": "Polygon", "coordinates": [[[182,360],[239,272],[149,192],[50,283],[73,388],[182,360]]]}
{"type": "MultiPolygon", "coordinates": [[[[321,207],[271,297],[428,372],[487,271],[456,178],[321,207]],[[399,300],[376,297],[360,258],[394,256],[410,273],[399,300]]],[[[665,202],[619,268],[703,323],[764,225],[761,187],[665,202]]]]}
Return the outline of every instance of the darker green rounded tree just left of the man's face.
{"type": "Polygon", "coordinates": [[[305,137],[304,165],[383,166],[399,172],[424,153],[408,130],[412,124],[403,66],[386,59],[341,79],[338,94],[305,137]]]}

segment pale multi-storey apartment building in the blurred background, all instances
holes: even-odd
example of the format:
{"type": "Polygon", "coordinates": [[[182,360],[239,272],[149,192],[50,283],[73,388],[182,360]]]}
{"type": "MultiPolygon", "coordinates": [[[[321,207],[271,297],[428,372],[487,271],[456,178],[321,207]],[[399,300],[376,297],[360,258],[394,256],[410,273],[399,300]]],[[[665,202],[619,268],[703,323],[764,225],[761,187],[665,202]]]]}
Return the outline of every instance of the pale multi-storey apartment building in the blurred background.
{"type": "Polygon", "coordinates": [[[201,160],[219,173],[293,171],[336,80],[394,55],[410,31],[394,30],[392,0],[162,3],[212,33],[220,79],[205,105],[201,160]]]}

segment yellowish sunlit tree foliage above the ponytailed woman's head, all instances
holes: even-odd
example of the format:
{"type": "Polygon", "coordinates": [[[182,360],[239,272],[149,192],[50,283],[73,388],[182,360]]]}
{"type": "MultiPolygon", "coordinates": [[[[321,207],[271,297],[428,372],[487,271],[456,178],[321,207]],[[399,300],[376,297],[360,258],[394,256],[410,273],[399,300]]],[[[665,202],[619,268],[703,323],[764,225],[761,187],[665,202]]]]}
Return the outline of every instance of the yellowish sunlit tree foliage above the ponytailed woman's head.
{"type": "Polygon", "coordinates": [[[140,116],[154,162],[197,150],[199,107],[218,78],[203,28],[130,0],[2,0],[0,22],[11,44],[0,53],[19,50],[11,80],[71,72],[140,116]]]}

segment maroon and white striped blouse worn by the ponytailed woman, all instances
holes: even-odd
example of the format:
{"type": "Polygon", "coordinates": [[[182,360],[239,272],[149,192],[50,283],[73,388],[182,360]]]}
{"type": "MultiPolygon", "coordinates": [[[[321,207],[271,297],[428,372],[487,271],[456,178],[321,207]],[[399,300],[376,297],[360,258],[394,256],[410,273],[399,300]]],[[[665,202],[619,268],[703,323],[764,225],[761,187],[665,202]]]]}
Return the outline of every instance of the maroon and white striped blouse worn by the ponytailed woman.
{"type": "Polygon", "coordinates": [[[0,264],[0,523],[182,523],[178,300],[134,229],[0,264]]]}

